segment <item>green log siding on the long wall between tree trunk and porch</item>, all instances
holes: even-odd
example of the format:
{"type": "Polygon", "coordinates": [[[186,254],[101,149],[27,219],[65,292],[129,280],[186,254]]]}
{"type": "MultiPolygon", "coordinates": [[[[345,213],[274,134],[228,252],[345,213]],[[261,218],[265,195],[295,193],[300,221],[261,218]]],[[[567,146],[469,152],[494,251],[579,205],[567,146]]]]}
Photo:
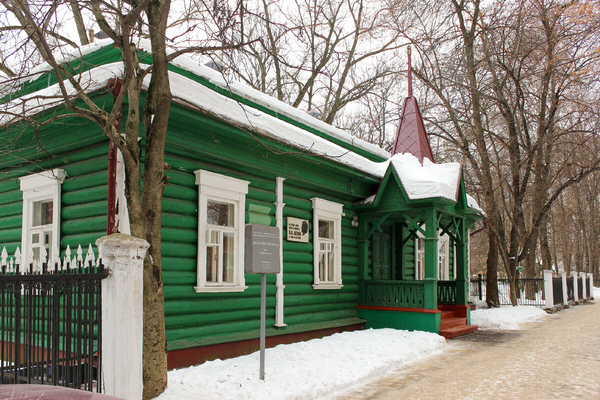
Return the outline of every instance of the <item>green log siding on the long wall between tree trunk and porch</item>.
{"type": "MultiPolygon", "coordinates": [[[[178,135],[184,136],[181,132],[178,135]]],[[[218,149],[218,151],[223,151],[218,149]]],[[[197,263],[197,202],[198,189],[193,171],[206,169],[250,182],[246,196],[247,223],[275,225],[275,190],[278,175],[263,169],[248,169],[257,154],[247,152],[238,165],[230,161],[227,167],[207,163],[210,155],[196,152],[181,154],[175,146],[167,145],[166,161],[170,184],[164,191],[163,214],[163,278],[165,284],[165,315],[169,350],[256,338],[259,329],[260,277],[245,275],[247,290],[241,293],[196,293],[197,263]],[[239,165],[242,164],[242,165],[239,165]],[[245,172],[241,172],[245,171],[245,172]]],[[[275,158],[275,155],[271,155],[275,158]]],[[[229,158],[229,157],[226,157],[229,158]]],[[[277,160],[274,160],[277,161],[277,160]]],[[[299,164],[299,161],[295,161],[299,164]]],[[[298,165],[299,166],[299,165],[298,165]]],[[[275,276],[267,279],[267,334],[319,329],[358,323],[358,232],[350,223],[356,215],[352,201],[322,191],[307,189],[304,181],[281,174],[283,183],[283,282],[284,329],[275,329],[275,276]],[[342,221],[342,279],[340,290],[313,289],[313,244],[311,197],[344,203],[346,216],[342,221]],[[286,217],[310,221],[309,243],[288,242],[286,217]]]]}

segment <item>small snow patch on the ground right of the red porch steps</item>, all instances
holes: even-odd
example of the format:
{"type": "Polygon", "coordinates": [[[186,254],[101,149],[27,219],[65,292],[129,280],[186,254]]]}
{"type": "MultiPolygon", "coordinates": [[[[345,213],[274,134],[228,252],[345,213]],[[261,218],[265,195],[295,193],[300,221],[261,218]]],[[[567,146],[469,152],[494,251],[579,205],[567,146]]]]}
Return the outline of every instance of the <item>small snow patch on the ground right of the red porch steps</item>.
{"type": "Polygon", "coordinates": [[[479,329],[520,329],[521,324],[542,321],[547,312],[535,306],[503,306],[471,311],[471,323],[479,329]]]}

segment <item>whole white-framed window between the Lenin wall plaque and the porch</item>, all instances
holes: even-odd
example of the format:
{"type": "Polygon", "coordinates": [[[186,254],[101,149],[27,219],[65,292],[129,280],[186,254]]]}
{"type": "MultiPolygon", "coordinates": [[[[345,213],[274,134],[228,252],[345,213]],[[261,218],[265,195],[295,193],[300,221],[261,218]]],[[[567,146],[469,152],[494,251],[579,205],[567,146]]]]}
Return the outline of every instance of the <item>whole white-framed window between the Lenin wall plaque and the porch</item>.
{"type": "Polygon", "coordinates": [[[339,289],[341,284],[342,205],[313,197],[315,289],[339,289]]]}

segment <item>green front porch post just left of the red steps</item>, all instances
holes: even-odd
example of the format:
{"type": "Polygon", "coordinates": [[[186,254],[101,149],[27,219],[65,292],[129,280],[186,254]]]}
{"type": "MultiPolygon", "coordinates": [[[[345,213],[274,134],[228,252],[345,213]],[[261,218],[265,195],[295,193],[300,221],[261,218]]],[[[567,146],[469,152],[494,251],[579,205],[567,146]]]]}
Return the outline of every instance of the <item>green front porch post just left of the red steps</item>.
{"type": "Polygon", "coordinates": [[[424,308],[437,309],[437,212],[425,214],[425,278],[424,308]]]}

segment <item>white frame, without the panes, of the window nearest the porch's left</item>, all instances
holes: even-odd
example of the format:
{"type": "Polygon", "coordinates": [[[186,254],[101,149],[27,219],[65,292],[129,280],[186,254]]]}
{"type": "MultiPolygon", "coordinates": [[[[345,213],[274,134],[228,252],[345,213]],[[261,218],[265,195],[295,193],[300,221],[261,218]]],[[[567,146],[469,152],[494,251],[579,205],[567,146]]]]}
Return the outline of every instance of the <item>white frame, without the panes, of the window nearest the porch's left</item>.
{"type": "MultiPolygon", "coordinates": [[[[341,216],[342,204],[333,201],[313,197],[313,266],[314,266],[314,289],[339,289],[344,285],[341,282],[341,216]],[[323,240],[319,238],[319,219],[330,221],[334,224],[334,239],[323,240]],[[319,252],[320,243],[328,242],[334,247],[334,280],[321,281],[319,279],[319,252]]],[[[331,267],[331,266],[329,266],[331,267]]]]}

